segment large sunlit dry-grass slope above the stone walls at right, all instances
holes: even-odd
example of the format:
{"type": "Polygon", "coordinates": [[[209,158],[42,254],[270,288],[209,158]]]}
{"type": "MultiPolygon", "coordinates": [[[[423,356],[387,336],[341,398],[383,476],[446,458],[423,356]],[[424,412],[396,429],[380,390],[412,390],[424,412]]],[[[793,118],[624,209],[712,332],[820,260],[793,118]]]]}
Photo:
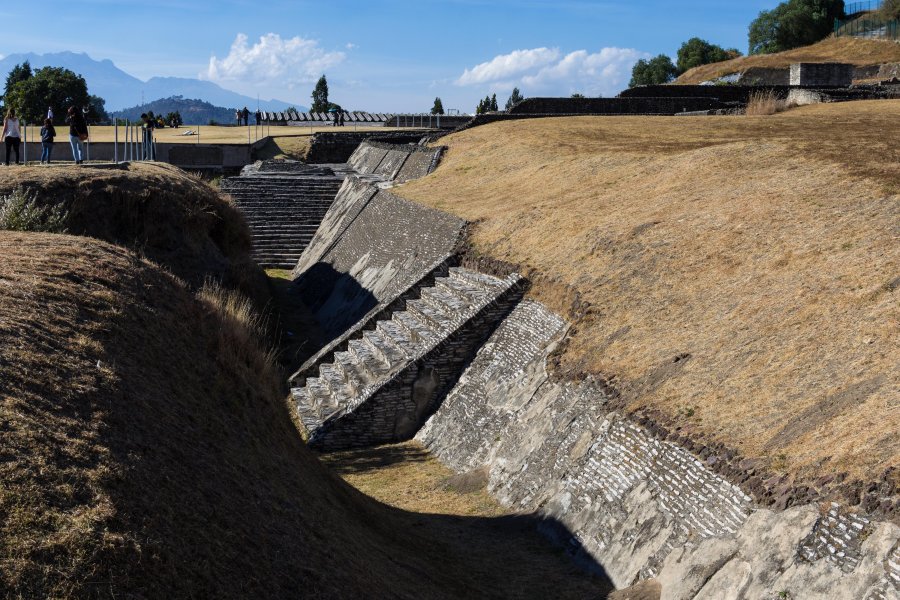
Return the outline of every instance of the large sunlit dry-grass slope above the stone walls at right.
{"type": "Polygon", "coordinates": [[[506,122],[397,191],[476,221],[553,308],[558,284],[590,303],[562,372],[794,474],[869,478],[900,466],[898,139],[897,101],[506,122]]]}

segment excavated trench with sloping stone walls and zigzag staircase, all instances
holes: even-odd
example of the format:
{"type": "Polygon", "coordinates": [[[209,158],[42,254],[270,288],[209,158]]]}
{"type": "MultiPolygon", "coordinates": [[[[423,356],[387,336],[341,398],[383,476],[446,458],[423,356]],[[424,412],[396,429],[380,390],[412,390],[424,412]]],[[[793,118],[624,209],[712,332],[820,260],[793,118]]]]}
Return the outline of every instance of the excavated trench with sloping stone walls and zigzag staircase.
{"type": "Polygon", "coordinates": [[[635,595],[898,597],[900,528],[838,505],[761,508],[617,412],[604,382],[550,375],[566,320],[528,299],[511,269],[479,270],[466,223],[390,191],[440,152],[363,143],[279,284],[284,339],[296,324],[315,332],[287,344],[283,362],[327,464],[410,510],[529,515],[529,528],[635,595]]]}

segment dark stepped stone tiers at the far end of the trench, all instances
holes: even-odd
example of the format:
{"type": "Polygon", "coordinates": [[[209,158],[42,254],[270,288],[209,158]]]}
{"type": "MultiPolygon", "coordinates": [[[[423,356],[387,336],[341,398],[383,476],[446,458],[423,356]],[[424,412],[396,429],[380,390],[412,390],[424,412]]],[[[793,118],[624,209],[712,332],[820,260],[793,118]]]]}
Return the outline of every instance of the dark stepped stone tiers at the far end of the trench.
{"type": "Polygon", "coordinates": [[[234,198],[247,219],[256,262],[264,268],[292,269],[341,182],[333,175],[254,174],[224,179],[222,191],[234,198]]]}

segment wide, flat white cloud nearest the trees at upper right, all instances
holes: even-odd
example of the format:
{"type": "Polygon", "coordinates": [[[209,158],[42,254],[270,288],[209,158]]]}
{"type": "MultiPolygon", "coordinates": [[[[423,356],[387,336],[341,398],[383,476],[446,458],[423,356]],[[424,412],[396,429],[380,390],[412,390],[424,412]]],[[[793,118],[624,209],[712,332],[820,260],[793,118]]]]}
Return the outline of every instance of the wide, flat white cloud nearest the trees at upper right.
{"type": "Polygon", "coordinates": [[[631,48],[603,48],[599,52],[576,50],[560,58],[559,50],[516,50],[466,69],[457,85],[488,86],[506,91],[514,86],[525,95],[610,95],[628,82],[631,68],[649,54],[631,48]]]}

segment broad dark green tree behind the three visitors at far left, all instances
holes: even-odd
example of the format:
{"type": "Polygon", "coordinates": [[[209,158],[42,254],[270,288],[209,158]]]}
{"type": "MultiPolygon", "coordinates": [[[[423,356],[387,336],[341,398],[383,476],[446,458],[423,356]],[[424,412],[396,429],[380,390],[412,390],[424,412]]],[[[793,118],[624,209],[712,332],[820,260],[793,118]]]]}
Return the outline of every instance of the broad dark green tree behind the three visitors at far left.
{"type": "Polygon", "coordinates": [[[29,123],[44,120],[47,107],[53,107],[57,124],[63,122],[70,106],[88,108],[90,122],[107,121],[105,102],[88,94],[84,77],[62,67],[44,67],[32,77],[15,83],[6,95],[6,103],[14,106],[29,123]]]}

